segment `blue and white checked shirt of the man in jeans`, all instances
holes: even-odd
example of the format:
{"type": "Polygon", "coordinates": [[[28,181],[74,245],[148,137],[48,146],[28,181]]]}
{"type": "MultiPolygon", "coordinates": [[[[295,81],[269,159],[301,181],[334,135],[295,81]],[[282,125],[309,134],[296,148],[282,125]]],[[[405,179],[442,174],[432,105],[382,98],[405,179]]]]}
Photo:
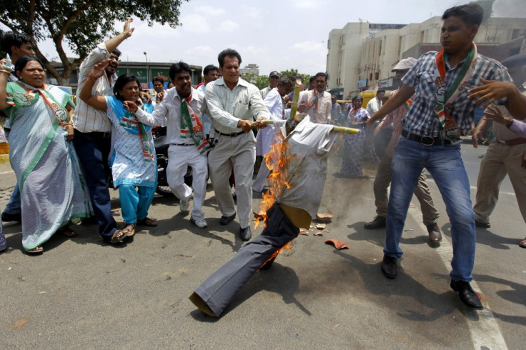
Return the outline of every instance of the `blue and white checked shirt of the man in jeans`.
{"type": "MultiPolygon", "coordinates": [[[[416,93],[410,111],[402,120],[404,129],[407,129],[412,134],[432,137],[440,136],[439,121],[435,114],[435,106],[437,106],[435,90],[435,69],[437,64],[435,59],[437,55],[437,51],[423,54],[402,78],[402,82],[415,88],[416,93]]],[[[455,67],[450,67],[446,62],[446,91],[450,88],[452,82],[455,81],[461,67],[462,62],[455,67]]],[[[462,135],[470,133],[471,124],[475,119],[475,109],[477,108],[475,104],[472,104],[472,100],[467,99],[467,90],[482,85],[480,78],[512,81],[502,64],[494,59],[477,54],[477,63],[471,78],[465,86],[459,86],[462,92],[457,96],[457,99],[445,106],[446,113],[452,116],[458,126],[460,126],[462,135]]]]}

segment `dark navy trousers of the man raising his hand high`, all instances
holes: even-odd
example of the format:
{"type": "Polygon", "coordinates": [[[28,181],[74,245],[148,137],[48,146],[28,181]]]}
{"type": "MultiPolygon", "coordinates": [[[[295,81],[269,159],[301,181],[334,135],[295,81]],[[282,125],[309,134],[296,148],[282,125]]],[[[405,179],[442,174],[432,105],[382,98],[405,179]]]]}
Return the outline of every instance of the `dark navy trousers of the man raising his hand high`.
{"type": "Polygon", "coordinates": [[[111,199],[109,197],[106,179],[109,176],[108,155],[111,146],[109,133],[82,133],[75,130],[73,145],[79,161],[86,174],[91,206],[99,223],[99,234],[104,239],[110,239],[116,230],[116,222],[111,214],[111,199]]]}

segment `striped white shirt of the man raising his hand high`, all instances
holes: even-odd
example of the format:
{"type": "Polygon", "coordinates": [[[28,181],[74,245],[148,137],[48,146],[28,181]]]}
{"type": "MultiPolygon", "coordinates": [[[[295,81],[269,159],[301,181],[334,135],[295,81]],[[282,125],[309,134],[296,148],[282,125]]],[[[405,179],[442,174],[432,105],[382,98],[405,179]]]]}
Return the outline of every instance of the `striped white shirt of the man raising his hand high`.
{"type": "MultiPolygon", "coordinates": [[[[80,94],[82,86],[88,79],[89,72],[100,61],[109,58],[109,52],[106,49],[106,44],[101,43],[89,53],[84,59],[79,68],[79,87],[76,89],[77,96],[80,94]]],[[[111,76],[111,81],[108,76],[104,74],[91,89],[91,94],[97,96],[113,96],[113,86],[115,84],[116,74],[111,76]]],[[[81,99],[76,99],[75,113],[73,114],[73,123],[75,129],[81,132],[108,132],[111,131],[111,122],[109,121],[106,111],[99,111],[92,106],[88,106],[86,102],[81,99]]]]}

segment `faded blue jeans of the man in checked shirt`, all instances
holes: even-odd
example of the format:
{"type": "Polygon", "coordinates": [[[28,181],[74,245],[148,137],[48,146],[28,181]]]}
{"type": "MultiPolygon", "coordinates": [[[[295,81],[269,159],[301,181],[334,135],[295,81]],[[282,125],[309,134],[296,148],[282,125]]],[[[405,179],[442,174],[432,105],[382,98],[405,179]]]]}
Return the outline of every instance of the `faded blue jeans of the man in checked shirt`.
{"type": "Polygon", "coordinates": [[[396,259],[402,257],[400,237],[423,168],[435,179],[450,217],[453,243],[451,279],[470,282],[475,261],[475,215],[471,206],[470,183],[460,156],[460,144],[425,146],[400,137],[392,159],[384,254],[396,259]]]}

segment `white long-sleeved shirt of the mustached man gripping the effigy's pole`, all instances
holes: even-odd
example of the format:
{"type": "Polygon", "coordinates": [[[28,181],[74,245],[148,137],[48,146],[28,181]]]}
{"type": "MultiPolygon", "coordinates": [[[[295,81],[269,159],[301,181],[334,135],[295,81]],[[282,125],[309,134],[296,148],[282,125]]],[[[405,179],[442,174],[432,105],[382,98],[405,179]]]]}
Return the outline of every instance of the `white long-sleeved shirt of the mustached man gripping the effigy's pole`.
{"type": "Polygon", "coordinates": [[[207,104],[212,126],[223,134],[242,132],[237,127],[239,119],[253,121],[259,117],[269,118],[257,86],[239,78],[234,89],[224,84],[223,78],[207,84],[207,104]]]}

